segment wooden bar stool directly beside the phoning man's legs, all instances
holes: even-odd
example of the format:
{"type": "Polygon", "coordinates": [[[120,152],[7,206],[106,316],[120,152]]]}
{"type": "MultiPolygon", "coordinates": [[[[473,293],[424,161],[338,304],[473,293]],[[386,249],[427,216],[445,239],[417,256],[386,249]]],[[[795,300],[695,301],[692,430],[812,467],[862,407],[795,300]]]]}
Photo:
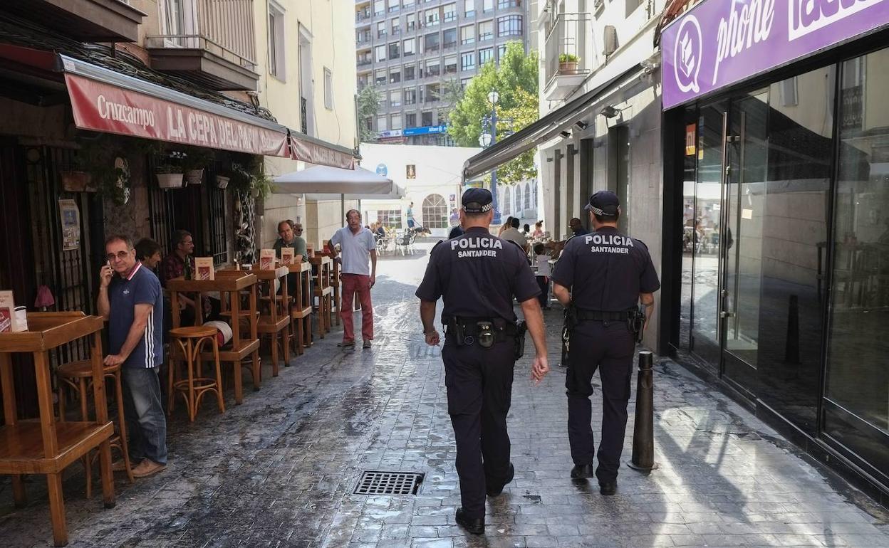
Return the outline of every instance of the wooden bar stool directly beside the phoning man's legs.
{"type": "MultiPolygon", "coordinates": [[[[117,402],[117,433],[111,437],[108,442],[112,449],[117,449],[124,457],[124,469],[126,477],[132,483],[135,479],[132,477],[132,466],[130,466],[130,451],[127,448],[126,441],[126,420],[124,418],[124,391],[121,385],[121,366],[105,365],[103,366],[105,378],[110,379],[114,383],[115,400],[117,402]]],[[[90,413],[87,406],[87,393],[92,387],[92,361],[80,360],[63,363],[56,369],[56,377],[59,379],[59,422],[65,422],[65,391],[68,386],[77,398],[80,400],[80,418],[83,421],[90,420],[90,413]]],[[[113,421],[112,421],[113,422],[113,421]]],[[[92,451],[83,457],[84,468],[86,471],[86,498],[92,498],[92,465],[98,453],[93,454],[92,451]]]]}

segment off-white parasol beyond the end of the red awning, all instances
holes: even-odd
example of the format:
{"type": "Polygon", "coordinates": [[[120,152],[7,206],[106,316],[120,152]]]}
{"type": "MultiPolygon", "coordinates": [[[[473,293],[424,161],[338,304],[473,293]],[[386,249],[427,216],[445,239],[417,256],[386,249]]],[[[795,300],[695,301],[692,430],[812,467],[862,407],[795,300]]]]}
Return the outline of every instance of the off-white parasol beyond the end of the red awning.
{"type": "Polygon", "coordinates": [[[362,167],[344,170],[319,165],[285,173],[273,180],[277,194],[331,195],[330,198],[340,198],[340,195],[366,197],[393,195],[397,187],[392,179],[380,177],[362,167]]]}

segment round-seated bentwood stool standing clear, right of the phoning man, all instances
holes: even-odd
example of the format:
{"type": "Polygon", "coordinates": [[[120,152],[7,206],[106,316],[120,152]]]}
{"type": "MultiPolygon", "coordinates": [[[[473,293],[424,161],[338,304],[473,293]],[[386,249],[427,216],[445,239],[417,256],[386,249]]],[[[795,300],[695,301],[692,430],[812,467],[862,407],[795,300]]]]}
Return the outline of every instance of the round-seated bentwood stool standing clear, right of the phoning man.
{"type": "MultiPolygon", "coordinates": [[[[220,373],[220,354],[216,345],[216,329],[213,327],[194,326],[180,327],[170,330],[170,340],[179,345],[182,355],[172,353],[170,359],[170,373],[168,381],[167,414],[172,415],[173,404],[176,401],[175,393],[181,392],[188,408],[188,420],[195,422],[197,408],[201,404],[201,398],[205,393],[215,392],[216,401],[219,403],[220,413],[225,412],[225,402],[222,401],[222,375],[220,373]],[[216,378],[200,377],[203,373],[201,363],[201,347],[209,343],[212,346],[212,355],[216,369],[216,378]],[[188,369],[188,378],[176,380],[176,361],[185,362],[188,369]]],[[[172,343],[171,343],[172,346],[172,343]]]]}

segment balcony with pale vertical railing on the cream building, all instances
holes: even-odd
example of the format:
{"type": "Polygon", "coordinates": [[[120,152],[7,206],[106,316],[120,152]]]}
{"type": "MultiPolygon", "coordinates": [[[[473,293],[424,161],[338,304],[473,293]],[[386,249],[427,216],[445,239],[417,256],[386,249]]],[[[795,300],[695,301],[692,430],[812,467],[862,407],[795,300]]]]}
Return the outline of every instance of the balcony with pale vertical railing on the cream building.
{"type": "Polygon", "coordinates": [[[175,32],[148,36],[151,67],[214,90],[256,89],[253,0],[186,0],[175,32]]]}

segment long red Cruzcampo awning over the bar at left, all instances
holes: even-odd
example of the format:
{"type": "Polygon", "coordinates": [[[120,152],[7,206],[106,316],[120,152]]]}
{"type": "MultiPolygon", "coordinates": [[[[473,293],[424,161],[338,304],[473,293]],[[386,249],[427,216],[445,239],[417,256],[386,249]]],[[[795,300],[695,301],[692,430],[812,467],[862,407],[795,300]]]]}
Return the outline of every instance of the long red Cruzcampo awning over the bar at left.
{"type": "Polygon", "coordinates": [[[355,153],[347,147],[122,71],[16,44],[0,43],[0,59],[46,82],[64,79],[80,129],[355,167],[355,153]]]}

